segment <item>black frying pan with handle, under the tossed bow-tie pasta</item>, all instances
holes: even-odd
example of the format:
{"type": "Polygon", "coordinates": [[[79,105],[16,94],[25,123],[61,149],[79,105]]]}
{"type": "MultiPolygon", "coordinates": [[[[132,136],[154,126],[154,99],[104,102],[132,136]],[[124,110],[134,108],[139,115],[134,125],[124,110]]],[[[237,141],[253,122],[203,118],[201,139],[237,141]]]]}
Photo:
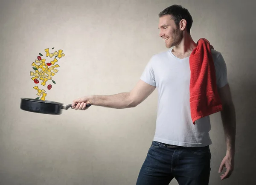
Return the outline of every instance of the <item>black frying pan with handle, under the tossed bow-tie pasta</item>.
{"type": "MultiPolygon", "coordinates": [[[[86,104],[86,107],[90,106],[91,104],[86,104]]],[[[62,109],[67,110],[70,107],[72,107],[71,104],[64,106],[63,103],[55,101],[43,101],[33,98],[21,98],[20,100],[20,109],[34,113],[59,115],[62,113],[62,109]]]]}

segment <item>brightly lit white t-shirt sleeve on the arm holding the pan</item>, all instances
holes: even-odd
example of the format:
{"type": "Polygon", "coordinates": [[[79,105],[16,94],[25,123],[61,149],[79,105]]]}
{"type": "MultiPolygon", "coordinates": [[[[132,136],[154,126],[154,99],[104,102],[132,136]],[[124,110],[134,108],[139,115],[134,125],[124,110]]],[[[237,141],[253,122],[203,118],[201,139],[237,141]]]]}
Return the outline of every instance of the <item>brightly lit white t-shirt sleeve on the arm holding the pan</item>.
{"type": "Polygon", "coordinates": [[[153,59],[154,59],[154,56],[151,57],[148,64],[145,66],[145,69],[144,69],[142,75],[140,76],[140,79],[145,81],[149,85],[156,86],[154,67],[153,67],[153,59]]]}

